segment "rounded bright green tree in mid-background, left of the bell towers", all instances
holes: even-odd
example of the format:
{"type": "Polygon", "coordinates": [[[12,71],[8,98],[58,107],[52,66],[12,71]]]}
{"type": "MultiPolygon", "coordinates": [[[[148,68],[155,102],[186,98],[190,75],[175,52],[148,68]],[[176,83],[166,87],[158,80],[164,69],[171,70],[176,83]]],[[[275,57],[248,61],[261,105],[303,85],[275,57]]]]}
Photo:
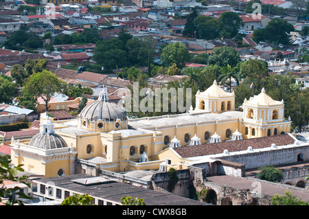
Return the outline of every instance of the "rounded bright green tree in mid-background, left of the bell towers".
{"type": "Polygon", "coordinates": [[[187,51],[187,47],[183,43],[169,43],[161,52],[161,61],[164,66],[170,66],[175,63],[179,69],[182,69],[185,66],[185,62],[190,60],[189,51],[187,51]]]}

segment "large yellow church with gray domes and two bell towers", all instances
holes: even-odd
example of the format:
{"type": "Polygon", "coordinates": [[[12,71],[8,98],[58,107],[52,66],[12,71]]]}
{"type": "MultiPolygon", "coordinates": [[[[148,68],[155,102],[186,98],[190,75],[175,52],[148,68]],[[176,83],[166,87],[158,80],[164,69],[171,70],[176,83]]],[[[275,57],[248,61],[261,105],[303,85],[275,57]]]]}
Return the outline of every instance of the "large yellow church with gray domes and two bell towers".
{"type": "Polygon", "coordinates": [[[41,132],[32,139],[12,139],[12,163],[45,177],[159,170],[169,159],[169,153],[163,153],[167,148],[290,132],[284,102],[273,100],[264,89],[244,100],[243,111],[235,111],[234,101],[234,93],[214,81],[196,93],[196,107],[187,113],[128,119],[122,107],[108,102],[103,87],[99,99],[85,106],[77,119],[41,118],[41,132]]]}

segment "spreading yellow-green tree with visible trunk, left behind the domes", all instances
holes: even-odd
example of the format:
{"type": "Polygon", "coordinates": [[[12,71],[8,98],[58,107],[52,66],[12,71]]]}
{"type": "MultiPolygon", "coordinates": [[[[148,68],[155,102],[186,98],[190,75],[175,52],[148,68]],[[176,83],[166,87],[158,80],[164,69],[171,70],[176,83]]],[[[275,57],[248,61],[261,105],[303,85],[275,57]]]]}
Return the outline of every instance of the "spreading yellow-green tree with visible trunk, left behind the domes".
{"type": "Polygon", "coordinates": [[[54,73],[43,70],[32,74],[28,78],[22,90],[23,96],[41,97],[45,102],[45,111],[48,111],[48,103],[54,93],[67,92],[67,84],[59,80],[54,73]]]}

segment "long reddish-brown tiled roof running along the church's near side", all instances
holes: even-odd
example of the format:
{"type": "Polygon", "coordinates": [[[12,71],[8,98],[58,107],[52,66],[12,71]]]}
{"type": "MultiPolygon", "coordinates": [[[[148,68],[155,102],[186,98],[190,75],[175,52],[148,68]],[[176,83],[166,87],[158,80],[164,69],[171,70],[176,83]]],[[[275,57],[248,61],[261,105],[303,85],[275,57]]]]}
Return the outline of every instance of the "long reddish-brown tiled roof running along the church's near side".
{"type": "Polygon", "coordinates": [[[268,137],[258,137],[254,139],[242,139],[237,141],[224,141],[218,143],[205,143],[198,146],[185,146],[181,148],[173,148],[181,157],[198,157],[210,154],[220,154],[224,150],[229,152],[236,152],[240,150],[247,150],[249,146],[252,149],[268,148],[275,143],[276,146],[284,146],[295,142],[293,137],[288,134],[275,135],[268,137]]]}

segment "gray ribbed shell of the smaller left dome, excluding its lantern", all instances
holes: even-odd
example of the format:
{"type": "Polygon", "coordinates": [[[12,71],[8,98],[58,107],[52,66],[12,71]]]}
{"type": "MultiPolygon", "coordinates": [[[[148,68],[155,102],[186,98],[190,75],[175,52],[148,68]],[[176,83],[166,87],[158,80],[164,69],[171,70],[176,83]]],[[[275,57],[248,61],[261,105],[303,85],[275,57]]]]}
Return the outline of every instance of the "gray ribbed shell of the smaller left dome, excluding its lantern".
{"type": "Polygon", "coordinates": [[[67,144],[65,143],[65,140],[62,139],[57,134],[42,134],[38,133],[32,137],[29,141],[30,146],[34,146],[36,148],[41,149],[56,149],[56,148],[65,148],[67,147],[67,144]]]}

